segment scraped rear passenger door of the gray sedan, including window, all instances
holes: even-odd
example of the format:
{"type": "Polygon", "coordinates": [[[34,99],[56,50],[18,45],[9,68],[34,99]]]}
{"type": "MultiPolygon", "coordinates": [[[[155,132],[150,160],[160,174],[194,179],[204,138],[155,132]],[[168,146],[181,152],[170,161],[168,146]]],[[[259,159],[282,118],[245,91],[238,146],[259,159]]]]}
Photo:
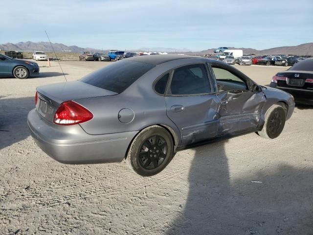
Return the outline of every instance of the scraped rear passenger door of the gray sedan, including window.
{"type": "Polygon", "coordinates": [[[172,71],[165,102],[167,116],[179,128],[183,146],[216,137],[220,101],[204,63],[172,71]]]}

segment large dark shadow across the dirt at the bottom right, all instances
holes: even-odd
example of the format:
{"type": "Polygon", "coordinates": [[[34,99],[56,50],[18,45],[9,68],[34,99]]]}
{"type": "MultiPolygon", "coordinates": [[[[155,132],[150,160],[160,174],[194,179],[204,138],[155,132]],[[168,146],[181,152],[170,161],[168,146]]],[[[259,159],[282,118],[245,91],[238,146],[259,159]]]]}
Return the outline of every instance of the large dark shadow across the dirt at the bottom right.
{"type": "Polygon", "coordinates": [[[186,203],[165,234],[312,234],[313,169],[280,164],[231,175],[225,145],[195,148],[186,203]]]}

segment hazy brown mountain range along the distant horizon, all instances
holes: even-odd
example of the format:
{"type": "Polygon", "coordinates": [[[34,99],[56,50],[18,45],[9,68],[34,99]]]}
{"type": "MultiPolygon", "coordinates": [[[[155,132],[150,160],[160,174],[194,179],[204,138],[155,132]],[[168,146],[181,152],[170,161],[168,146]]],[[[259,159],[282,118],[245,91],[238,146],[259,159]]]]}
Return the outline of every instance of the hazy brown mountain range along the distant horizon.
{"type": "MultiPolygon", "coordinates": [[[[72,52],[79,52],[83,50],[90,50],[90,51],[100,51],[100,49],[95,48],[83,48],[83,47],[77,47],[77,46],[66,46],[64,44],[60,43],[52,43],[53,48],[55,51],[72,51],[72,52]]],[[[223,45],[222,45],[223,46],[223,45]]],[[[270,54],[294,54],[294,55],[313,55],[313,43],[306,43],[301,44],[298,46],[290,46],[290,47],[274,47],[269,48],[265,50],[256,50],[253,48],[236,48],[236,47],[228,47],[229,49],[242,49],[244,54],[256,54],[256,55],[270,55],[270,54]]],[[[192,52],[190,49],[182,48],[166,48],[166,47],[142,47],[139,49],[134,49],[133,51],[156,51],[156,52],[170,52],[170,53],[185,53],[185,54],[212,54],[214,48],[198,51],[198,52],[192,52]]],[[[51,45],[48,42],[39,42],[39,43],[33,43],[33,42],[20,42],[17,44],[13,43],[6,43],[0,45],[0,50],[16,50],[16,51],[34,51],[34,50],[43,50],[43,51],[52,51],[51,45]]],[[[105,51],[108,51],[106,49],[105,51]]]]}

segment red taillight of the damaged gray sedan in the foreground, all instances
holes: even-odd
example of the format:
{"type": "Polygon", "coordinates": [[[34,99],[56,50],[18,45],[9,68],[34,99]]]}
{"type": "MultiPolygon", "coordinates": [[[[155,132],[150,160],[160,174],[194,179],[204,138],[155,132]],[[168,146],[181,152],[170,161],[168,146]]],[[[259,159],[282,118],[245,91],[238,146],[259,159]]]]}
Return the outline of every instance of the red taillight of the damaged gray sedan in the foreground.
{"type": "Polygon", "coordinates": [[[93,115],[89,110],[74,101],[65,101],[55,112],[53,122],[58,125],[75,125],[89,121],[93,115]]]}

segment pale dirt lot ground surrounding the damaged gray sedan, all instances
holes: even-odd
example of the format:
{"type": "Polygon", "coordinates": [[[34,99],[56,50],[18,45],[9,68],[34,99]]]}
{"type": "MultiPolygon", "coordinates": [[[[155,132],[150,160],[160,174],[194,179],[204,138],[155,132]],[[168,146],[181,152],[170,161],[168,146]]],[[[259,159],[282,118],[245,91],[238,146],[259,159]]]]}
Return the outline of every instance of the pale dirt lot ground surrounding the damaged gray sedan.
{"type": "MultiPolygon", "coordinates": [[[[114,62],[61,63],[71,81],[114,62]]],[[[143,178],[124,163],[60,164],[35,145],[35,88],[64,81],[56,62],[39,64],[38,77],[0,78],[0,234],[313,235],[312,107],[296,107],[275,140],[183,150],[143,178]]],[[[285,69],[236,68],[262,85],[285,69]]]]}

